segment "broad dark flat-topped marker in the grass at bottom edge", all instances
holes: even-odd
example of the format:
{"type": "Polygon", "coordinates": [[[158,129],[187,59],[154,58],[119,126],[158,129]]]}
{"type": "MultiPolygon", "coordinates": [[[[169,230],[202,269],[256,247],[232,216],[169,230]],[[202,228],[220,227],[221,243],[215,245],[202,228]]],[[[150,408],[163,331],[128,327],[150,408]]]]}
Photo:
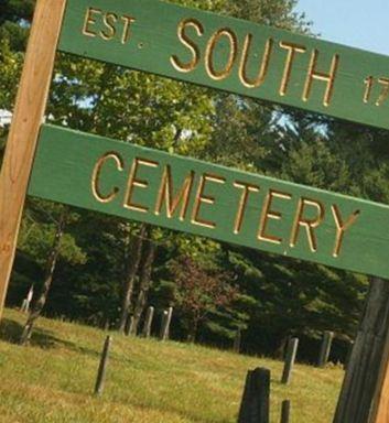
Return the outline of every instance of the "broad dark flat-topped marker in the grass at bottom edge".
{"type": "Polygon", "coordinates": [[[246,378],[238,423],[269,423],[270,370],[250,370],[246,378]]]}

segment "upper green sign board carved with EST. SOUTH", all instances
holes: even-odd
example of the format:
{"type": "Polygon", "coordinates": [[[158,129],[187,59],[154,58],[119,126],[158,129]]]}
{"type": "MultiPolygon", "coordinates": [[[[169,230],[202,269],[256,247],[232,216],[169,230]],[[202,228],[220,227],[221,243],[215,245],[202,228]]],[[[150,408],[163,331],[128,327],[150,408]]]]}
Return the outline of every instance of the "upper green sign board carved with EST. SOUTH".
{"type": "Polygon", "coordinates": [[[158,0],[68,0],[63,52],[389,129],[389,57],[158,0]]]}

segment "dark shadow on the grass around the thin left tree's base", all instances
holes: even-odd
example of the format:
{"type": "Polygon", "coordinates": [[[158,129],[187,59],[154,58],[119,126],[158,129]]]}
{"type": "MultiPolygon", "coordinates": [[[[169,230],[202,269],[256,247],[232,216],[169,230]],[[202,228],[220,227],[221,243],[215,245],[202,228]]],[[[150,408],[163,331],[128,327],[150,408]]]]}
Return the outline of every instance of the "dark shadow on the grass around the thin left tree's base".
{"type": "MultiPolygon", "coordinates": [[[[23,325],[17,321],[3,318],[0,324],[0,339],[6,343],[20,344],[20,337],[23,332],[23,325]]],[[[34,328],[31,337],[30,345],[33,347],[40,347],[44,349],[64,347],[75,352],[86,354],[93,357],[99,357],[99,352],[82,347],[75,343],[71,343],[66,339],[61,339],[54,335],[51,330],[42,328],[34,328]]]]}

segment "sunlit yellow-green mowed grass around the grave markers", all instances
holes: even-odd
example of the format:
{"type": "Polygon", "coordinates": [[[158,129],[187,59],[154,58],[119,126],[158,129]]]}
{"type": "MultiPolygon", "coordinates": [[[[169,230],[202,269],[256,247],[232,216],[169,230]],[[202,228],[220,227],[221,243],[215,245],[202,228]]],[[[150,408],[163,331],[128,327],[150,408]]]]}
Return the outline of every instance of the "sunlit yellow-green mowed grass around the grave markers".
{"type": "Polygon", "coordinates": [[[20,347],[24,318],[7,310],[0,326],[1,423],[233,423],[256,367],[272,372],[271,422],[290,399],[292,423],[329,423],[344,376],[337,367],[296,366],[284,387],[280,361],[112,333],[106,389],[95,398],[106,333],[42,318],[32,346],[20,347]]]}

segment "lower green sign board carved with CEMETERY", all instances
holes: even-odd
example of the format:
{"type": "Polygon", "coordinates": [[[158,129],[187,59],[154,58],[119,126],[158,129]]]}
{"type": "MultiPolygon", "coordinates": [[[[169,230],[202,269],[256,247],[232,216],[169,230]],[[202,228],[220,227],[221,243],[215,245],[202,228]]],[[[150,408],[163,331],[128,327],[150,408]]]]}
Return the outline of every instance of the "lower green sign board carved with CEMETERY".
{"type": "Polygon", "coordinates": [[[389,206],[43,126],[29,194],[389,278],[389,206]]]}

